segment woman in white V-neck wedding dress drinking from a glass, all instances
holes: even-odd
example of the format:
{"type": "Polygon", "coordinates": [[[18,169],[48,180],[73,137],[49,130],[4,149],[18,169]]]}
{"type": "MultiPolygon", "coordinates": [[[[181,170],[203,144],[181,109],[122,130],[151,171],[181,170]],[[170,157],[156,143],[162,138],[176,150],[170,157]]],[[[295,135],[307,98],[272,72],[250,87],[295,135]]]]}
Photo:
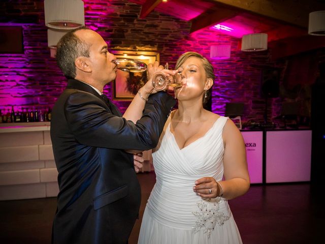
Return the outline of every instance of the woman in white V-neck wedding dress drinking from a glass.
{"type": "Polygon", "coordinates": [[[214,83],[209,61],[187,52],[176,69],[184,85],[153,150],[156,184],[138,243],[242,243],[227,201],[250,185],[242,135],[232,120],[203,108],[214,83]]]}

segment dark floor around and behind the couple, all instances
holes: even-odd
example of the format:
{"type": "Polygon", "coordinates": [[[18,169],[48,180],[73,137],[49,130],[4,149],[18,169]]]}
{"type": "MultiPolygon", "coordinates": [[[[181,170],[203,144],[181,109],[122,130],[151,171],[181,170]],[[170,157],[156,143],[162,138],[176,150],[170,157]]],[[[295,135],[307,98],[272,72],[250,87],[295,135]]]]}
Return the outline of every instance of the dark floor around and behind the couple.
{"type": "MultiPolygon", "coordinates": [[[[141,217],[155,182],[154,173],[141,173],[140,220],[129,238],[137,243],[141,217]]],[[[325,243],[324,188],[311,184],[251,186],[229,201],[244,244],[325,243]]],[[[0,201],[0,243],[50,243],[56,198],[0,201]]]]}

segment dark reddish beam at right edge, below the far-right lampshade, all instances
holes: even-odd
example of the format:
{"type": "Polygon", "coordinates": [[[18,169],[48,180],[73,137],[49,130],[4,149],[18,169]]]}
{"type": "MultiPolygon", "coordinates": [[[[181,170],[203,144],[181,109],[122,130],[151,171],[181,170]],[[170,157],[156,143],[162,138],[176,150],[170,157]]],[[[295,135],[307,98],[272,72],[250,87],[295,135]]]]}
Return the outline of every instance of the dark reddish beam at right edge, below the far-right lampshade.
{"type": "Polygon", "coordinates": [[[302,52],[325,47],[325,37],[303,36],[287,38],[268,43],[272,59],[295,55],[302,52]]]}

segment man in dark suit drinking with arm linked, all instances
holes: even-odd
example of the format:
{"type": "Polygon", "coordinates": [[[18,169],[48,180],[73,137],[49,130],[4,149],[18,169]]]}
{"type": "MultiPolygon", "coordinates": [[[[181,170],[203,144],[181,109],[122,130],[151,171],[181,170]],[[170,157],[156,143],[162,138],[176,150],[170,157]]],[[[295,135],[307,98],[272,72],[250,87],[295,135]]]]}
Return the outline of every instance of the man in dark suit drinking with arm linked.
{"type": "MultiPolygon", "coordinates": [[[[57,64],[69,80],[52,110],[60,190],[52,243],[127,243],[140,207],[134,160],[141,159],[125,150],[155,147],[175,105],[167,93],[155,93],[148,81],[122,117],[101,97],[116,76],[115,56],[107,48],[87,28],[66,34],[57,45],[57,64]]],[[[148,69],[163,68],[155,63],[148,69]]]]}

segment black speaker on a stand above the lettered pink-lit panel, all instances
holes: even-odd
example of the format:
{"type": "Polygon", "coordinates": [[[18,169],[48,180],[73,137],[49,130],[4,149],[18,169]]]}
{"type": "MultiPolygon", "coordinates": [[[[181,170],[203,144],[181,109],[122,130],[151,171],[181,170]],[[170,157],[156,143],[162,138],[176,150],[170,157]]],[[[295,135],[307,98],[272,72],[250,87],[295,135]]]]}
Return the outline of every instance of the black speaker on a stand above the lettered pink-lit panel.
{"type": "Polygon", "coordinates": [[[279,69],[262,70],[262,97],[276,98],[279,96],[279,69]]]}

